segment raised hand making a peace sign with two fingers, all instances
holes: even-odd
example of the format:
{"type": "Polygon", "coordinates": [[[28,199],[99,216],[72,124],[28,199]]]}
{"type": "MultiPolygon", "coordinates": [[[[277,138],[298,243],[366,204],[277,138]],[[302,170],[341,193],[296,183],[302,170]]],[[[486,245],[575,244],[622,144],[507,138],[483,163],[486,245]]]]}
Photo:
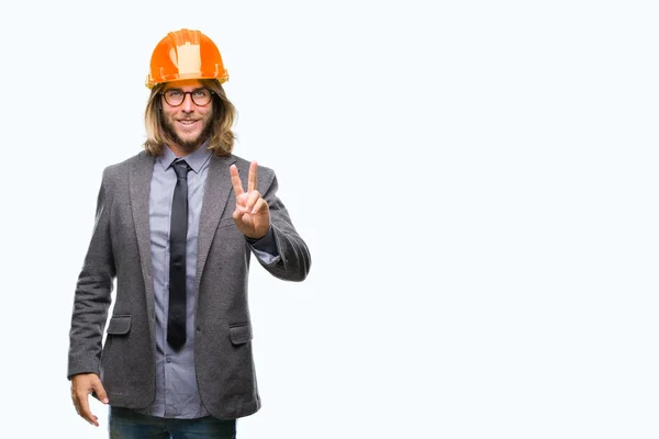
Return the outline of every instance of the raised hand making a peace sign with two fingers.
{"type": "Polygon", "coordinates": [[[236,210],[233,213],[234,223],[238,230],[248,238],[260,239],[270,228],[270,209],[256,189],[257,164],[249,164],[247,176],[247,192],[243,190],[243,183],[235,165],[230,168],[231,183],[236,194],[236,210]]]}

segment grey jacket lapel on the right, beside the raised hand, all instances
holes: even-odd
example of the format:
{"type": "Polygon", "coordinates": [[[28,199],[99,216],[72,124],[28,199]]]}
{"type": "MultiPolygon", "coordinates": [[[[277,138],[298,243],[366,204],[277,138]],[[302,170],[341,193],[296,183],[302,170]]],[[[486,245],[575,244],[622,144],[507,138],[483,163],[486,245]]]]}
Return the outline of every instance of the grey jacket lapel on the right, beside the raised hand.
{"type": "Polygon", "coordinates": [[[233,156],[216,157],[211,156],[209,173],[206,176],[205,189],[203,192],[203,204],[201,206],[201,217],[199,222],[199,241],[197,255],[197,279],[196,290],[199,291],[201,273],[205,266],[206,257],[211,248],[211,243],[215,236],[217,223],[226,207],[228,195],[233,191],[231,184],[231,175],[228,167],[236,161],[233,156]]]}

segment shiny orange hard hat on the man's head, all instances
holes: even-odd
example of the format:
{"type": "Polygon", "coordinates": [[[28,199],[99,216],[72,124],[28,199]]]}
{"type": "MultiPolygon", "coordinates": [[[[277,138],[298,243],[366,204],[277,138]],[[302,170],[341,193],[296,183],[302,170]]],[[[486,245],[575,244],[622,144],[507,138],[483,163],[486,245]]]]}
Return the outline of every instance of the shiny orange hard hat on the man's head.
{"type": "Polygon", "coordinates": [[[199,31],[169,32],[154,49],[146,87],[179,79],[228,80],[217,46],[199,31]]]}

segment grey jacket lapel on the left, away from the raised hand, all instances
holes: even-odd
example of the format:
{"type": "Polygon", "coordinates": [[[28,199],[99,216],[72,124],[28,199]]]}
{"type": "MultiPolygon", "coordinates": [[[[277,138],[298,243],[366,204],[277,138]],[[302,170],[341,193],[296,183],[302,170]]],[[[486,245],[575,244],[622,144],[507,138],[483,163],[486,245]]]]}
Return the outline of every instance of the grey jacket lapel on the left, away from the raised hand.
{"type": "Polygon", "coordinates": [[[142,264],[142,277],[146,285],[146,309],[152,334],[155,319],[154,309],[154,283],[152,281],[152,255],[150,255],[150,226],[148,217],[148,204],[150,192],[150,180],[154,173],[155,158],[142,151],[131,166],[129,173],[131,190],[131,210],[133,212],[133,224],[137,236],[137,248],[139,249],[139,262],[142,264]]]}

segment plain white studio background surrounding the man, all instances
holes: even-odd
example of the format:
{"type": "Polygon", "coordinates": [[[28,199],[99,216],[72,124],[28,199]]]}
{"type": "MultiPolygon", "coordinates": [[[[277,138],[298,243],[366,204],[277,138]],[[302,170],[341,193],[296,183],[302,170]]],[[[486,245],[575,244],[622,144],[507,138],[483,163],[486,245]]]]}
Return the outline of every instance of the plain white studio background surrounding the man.
{"type": "Polygon", "coordinates": [[[1,436],[107,436],[69,398],[75,283],[191,27],[313,259],[254,266],[241,439],[659,437],[656,2],[3,4],[1,436]]]}

